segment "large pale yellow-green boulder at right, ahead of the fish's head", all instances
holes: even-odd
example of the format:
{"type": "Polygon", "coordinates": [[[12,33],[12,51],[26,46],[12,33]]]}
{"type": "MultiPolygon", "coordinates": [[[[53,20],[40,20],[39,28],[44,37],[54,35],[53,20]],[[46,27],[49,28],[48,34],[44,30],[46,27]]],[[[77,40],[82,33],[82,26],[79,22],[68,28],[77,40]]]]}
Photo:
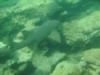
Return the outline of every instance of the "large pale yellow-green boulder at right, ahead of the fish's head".
{"type": "Polygon", "coordinates": [[[79,19],[63,23],[63,34],[66,43],[70,46],[84,47],[92,38],[97,35],[100,36],[99,13],[100,11],[96,10],[79,19]]]}

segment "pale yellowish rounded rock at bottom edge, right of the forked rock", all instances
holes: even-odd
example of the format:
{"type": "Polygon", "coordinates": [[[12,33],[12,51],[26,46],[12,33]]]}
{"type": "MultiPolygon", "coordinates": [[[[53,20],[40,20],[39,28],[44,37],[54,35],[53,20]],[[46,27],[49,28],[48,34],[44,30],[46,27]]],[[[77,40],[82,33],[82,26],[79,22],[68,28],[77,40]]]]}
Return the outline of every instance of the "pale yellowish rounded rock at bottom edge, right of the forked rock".
{"type": "Polygon", "coordinates": [[[77,63],[62,61],[50,75],[81,75],[82,67],[77,63]]]}

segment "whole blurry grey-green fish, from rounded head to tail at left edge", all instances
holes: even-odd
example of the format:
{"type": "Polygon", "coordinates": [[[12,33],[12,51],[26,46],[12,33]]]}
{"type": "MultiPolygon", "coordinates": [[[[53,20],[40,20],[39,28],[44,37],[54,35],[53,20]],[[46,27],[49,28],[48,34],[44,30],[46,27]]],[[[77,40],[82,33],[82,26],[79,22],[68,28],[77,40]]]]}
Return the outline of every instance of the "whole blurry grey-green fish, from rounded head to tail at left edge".
{"type": "Polygon", "coordinates": [[[10,48],[2,48],[0,50],[0,56],[10,53],[12,54],[16,50],[29,46],[31,44],[39,44],[42,40],[48,37],[48,35],[59,26],[59,24],[60,22],[57,20],[48,20],[44,22],[41,26],[33,30],[33,32],[29,33],[29,36],[21,43],[15,43],[10,48]]]}

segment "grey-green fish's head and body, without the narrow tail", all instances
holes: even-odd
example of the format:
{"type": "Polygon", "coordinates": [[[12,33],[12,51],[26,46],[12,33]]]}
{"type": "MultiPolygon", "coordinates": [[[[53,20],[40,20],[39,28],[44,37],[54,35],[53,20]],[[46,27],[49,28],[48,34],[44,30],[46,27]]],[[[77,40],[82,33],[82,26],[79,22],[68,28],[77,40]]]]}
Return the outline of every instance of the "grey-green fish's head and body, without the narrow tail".
{"type": "Polygon", "coordinates": [[[25,46],[32,44],[38,44],[43,39],[45,39],[54,29],[59,25],[57,20],[49,20],[44,22],[41,26],[33,30],[29,36],[21,43],[16,44],[15,48],[23,48],[25,46]]]}

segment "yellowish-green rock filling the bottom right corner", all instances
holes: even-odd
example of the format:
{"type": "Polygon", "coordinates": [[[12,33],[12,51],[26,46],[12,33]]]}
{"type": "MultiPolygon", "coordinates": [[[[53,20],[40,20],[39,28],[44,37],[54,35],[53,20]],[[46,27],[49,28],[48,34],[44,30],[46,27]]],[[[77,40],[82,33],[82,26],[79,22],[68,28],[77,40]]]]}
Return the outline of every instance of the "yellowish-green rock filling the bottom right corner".
{"type": "Polygon", "coordinates": [[[92,48],[83,52],[82,61],[86,62],[85,70],[90,75],[100,74],[100,49],[92,48]]]}

